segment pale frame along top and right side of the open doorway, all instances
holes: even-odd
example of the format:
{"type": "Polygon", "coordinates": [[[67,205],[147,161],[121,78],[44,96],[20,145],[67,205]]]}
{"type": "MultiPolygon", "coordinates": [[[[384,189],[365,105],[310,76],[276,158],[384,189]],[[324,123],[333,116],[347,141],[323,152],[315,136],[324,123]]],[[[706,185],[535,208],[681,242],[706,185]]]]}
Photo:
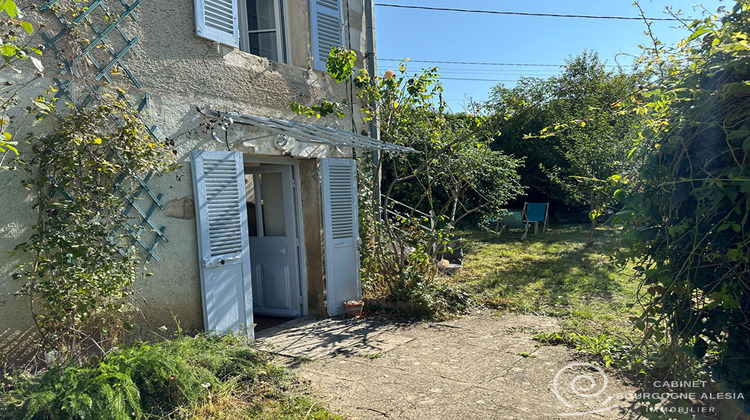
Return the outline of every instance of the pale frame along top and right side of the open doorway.
{"type": "MultiPolygon", "coordinates": [[[[299,176],[299,161],[294,158],[287,157],[272,157],[272,156],[256,156],[249,153],[242,153],[242,163],[260,163],[268,165],[287,165],[292,167],[292,197],[294,216],[297,225],[297,240],[299,245],[297,246],[297,261],[299,263],[299,282],[300,282],[300,294],[302,295],[302,308],[301,316],[307,316],[308,314],[308,302],[307,302],[307,258],[305,257],[305,229],[302,224],[302,191],[299,176]]],[[[245,226],[247,229],[247,226],[245,226]]]]}

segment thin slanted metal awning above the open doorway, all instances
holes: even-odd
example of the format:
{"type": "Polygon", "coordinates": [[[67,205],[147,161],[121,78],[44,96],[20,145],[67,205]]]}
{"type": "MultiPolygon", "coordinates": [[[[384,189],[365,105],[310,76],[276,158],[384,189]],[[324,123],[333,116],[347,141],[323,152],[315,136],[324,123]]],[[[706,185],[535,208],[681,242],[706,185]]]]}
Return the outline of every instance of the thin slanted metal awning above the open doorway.
{"type": "Polygon", "coordinates": [[[246,124],[262,128],[275,134],[293,137],[303,143],[328,144],[331,146],[346,146],[360,150],[384,150],[397,153],[419,153],[411,147],[398,144],[384,143],[372,137],[349,133],[335,128],[321,127],[294,121],[284,121],[275,118],[256,117],[235,112],[214,111],[217,116],[229,118],[235,124],[246,124]]]}

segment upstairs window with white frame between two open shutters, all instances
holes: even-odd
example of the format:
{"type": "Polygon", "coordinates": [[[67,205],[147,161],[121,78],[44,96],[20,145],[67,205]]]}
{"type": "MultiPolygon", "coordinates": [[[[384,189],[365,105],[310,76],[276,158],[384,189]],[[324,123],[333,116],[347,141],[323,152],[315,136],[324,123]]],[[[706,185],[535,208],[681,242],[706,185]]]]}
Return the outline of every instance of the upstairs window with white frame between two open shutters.
{"type": "Polygon", "coordinates": [[[284,0],[240,0],[240,49],[286,62],[284,0]]]}

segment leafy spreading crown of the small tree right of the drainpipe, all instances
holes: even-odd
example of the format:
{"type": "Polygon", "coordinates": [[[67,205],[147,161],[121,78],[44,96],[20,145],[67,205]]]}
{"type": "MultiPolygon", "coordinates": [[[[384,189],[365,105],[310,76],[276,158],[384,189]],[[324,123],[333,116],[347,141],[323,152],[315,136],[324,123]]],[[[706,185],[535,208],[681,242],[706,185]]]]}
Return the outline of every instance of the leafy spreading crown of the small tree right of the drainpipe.
{"type": "MultiPolygon", "coordinates": [[[[419,111],[406,111],[406,113],[419,111]]],[[[403,119],[408,137],[391,141],[421,153],[383,159],[383,190],[395,199],[452,226],[495,215],[523,192],[517,169],[521,161],[492,150],[484,128],[474,117],[424,114],[425,125],[403,119]],[[450,139],[458,139],[449,145],[450,139]]],[[[413,118],[419,118],[413,116],[413,118]]],[[[406,134],[405,129],[399,130],[406,134]]],[[[383,138],[388,138],[385,134],[383,138]]]]}

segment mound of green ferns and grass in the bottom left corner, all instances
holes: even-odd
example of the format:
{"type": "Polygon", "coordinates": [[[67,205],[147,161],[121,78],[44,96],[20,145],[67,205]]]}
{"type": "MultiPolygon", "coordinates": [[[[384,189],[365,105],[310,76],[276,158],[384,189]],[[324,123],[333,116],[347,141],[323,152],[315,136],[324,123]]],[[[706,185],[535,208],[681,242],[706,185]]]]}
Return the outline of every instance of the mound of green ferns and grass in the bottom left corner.
{"type": "Polygon", "coordinates": [[[335,419],[293,376],[234,337],[185,337],[115,349],[84,365],[19,374],[0,394],[12,419],[335,419]]]}

